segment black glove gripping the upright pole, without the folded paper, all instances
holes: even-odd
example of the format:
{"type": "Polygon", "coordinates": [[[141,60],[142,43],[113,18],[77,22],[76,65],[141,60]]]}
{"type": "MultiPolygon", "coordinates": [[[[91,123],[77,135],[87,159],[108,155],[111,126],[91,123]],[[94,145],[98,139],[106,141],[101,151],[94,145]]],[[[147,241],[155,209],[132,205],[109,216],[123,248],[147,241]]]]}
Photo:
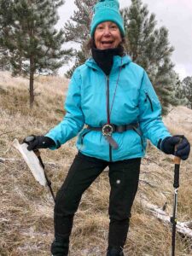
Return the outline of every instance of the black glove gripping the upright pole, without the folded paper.
{"type": "Polygon", "coordinates": [[[189,141],[181,135],[166,137],[163,141],[159,141],[157,147],[166,154],[179,156],[182,160],[188,159],[190,153],[189,141]]]}

